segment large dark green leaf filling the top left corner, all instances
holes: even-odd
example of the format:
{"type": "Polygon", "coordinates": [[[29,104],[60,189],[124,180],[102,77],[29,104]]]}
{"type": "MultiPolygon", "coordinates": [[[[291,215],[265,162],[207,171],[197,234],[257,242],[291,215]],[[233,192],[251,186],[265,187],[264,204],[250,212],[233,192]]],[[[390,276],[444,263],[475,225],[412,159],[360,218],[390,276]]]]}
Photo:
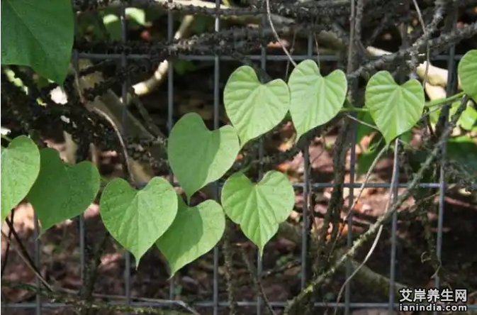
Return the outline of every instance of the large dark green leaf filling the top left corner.
{"type": "Polygon", "coordinates": [[[72,53],[74,20],[69,0],[2,0],[2,65],[27,65],[62,84],[72,53]]]}

